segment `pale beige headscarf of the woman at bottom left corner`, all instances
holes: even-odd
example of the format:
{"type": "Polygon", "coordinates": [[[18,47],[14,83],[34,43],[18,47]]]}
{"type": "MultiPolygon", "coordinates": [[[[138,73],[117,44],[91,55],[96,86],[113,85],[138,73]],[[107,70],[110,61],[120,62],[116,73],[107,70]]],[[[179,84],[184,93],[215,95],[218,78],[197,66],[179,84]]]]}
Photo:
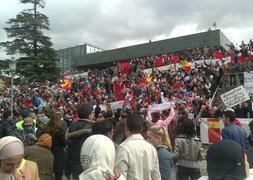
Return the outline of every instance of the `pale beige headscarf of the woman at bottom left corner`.
{"type": "Polygon", "coordinates": [[[24,144],[16,137],[6,136],[0,139],[0,160],[24,154],[24,144]]]}

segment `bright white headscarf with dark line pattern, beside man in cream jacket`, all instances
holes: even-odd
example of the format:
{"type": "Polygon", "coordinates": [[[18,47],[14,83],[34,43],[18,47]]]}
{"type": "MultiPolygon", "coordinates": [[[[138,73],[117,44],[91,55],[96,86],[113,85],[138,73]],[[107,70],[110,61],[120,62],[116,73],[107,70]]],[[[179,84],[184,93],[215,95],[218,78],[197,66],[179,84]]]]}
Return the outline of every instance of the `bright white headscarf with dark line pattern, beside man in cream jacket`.
{"type": "Polygon", "coordinates": [[[80,180],[105,180],[113,176],[115,146],[104,135],[90,136],[81,148],[81,164],[83,172],[80,180]]]}

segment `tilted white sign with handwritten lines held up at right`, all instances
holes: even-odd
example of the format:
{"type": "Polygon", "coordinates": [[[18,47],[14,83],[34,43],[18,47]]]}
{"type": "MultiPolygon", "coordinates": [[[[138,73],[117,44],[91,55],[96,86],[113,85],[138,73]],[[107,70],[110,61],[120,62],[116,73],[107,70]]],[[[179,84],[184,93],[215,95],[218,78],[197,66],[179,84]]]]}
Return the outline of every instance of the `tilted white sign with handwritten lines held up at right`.
{"type": "Polygon", "coordinates": [[[234,107],[250,99],[249,93],[242,85],[222,94],[220,97],[226,107],[234,107]]]}

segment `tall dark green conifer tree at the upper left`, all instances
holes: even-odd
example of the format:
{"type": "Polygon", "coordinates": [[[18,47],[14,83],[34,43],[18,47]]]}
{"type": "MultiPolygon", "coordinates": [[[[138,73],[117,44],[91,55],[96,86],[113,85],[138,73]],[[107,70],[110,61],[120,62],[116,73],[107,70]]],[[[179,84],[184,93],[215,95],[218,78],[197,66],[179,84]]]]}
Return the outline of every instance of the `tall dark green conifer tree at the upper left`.
{"type": "Polygon", "coordinates": [[[49,30],[49,19],[40,13],[38,8],[45,7],[44,0],[20,0],[23,4],[31,4],[7,21],[9,27],[4,28],[10,41],[1,42],[8,55],[19,54],[17,71],[30,80],[55,80],[59,68],[57,55],[52,42],[44,34],[49,30]]]}

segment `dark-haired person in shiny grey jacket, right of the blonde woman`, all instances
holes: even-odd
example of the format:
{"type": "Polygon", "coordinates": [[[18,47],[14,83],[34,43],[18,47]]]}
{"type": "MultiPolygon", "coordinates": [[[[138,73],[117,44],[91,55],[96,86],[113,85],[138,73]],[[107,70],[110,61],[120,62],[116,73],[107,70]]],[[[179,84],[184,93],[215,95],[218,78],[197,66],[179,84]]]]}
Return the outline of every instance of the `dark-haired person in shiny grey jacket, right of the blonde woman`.
{"type": "Polygon", "coordinates": [[[200,177],[200,162],[204,159],[201,141],[195,138],[195,127],[190,119],[185,119],[175,139],[173,159],[176,161],[177,180],[197,180],[200,177]]]}

